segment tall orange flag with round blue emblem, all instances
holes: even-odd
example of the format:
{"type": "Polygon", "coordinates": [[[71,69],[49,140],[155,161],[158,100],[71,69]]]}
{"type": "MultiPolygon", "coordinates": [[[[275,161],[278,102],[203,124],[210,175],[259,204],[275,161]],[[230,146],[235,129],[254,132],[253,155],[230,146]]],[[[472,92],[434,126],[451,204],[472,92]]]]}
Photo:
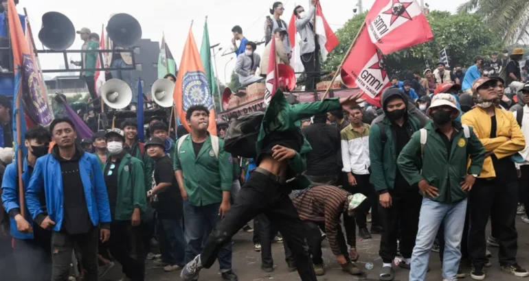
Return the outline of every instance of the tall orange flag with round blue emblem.
{"type": "Polygon", "coordinates": [[[178,117],[188,132],[191,132],[188,121],[185,120],[185,112],[188,108],[202,104],[209,109],[210,123],[207,127],[207,132],[216,136],[216,116],[213,98],[191,28],[189,29],[188,40],[185,41],[185,46],[183,47],[173,99],[175,99],[177,105],[178,117]]]}

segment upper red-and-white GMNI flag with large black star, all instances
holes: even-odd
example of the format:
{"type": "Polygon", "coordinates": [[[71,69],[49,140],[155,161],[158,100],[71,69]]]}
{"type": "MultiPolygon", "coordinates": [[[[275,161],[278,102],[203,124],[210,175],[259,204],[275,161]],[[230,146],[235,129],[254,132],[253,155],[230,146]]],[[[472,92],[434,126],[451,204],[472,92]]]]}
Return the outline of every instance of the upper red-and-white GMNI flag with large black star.
{"type": "Polygon", "coordinates": [[[416,0],[376,0],[365,25],[371,42],[385,55],[434,38],[416,0]]]}

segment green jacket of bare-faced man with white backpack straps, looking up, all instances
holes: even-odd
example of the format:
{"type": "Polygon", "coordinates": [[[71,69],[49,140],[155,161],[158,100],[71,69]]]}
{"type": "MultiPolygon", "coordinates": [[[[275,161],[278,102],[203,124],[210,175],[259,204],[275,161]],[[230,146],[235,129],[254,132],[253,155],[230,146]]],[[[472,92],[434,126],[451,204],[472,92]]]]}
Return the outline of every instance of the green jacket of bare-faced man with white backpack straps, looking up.
{"type": "Polygon", "coordinates": [[[202,145],[198,158],[194,154],[191,137],[185,138],[180,151],[173,158],[173,169],[182,171],[183,187],[193,206],[219,203],[223,199],[223,191],[232,190],[233,159],[224,150],[224,140],[221,138],[218,139],[218,160],[213,151],[211,136],[202,145]]]}

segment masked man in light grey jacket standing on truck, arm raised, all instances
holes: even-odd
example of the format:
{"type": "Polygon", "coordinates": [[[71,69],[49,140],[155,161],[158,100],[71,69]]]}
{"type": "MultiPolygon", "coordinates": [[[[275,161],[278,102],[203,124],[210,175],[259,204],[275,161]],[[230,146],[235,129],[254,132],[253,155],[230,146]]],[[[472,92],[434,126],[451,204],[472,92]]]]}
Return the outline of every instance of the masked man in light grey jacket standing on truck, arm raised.
{"type": "Polygon", "coordinates": [[[316,12],[317,0],[311,0],[311,8],[308,12],[301,5],[294,9],[296,16],[295,27],[301,38],[301,61],[303,63],[306,82],[305,90],[313,90],[319,82],[322,66],[319,64],[319,42],[314,35],[314,14],[316,12]]]}

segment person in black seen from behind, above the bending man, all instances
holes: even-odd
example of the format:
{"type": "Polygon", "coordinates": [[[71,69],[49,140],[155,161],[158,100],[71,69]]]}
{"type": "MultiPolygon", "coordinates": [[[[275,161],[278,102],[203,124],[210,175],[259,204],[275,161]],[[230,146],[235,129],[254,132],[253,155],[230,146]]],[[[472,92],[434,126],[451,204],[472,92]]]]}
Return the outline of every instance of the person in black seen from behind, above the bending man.
{"type": "Polygon", "coordinates": [[[335,185],[338,181],[338,154],[340,153],[340,132],[326,123],[327,114],[317,114],[313,124],[302,129],[313,150],[306,156],[305,175],[313,182],[335,185]]]}

